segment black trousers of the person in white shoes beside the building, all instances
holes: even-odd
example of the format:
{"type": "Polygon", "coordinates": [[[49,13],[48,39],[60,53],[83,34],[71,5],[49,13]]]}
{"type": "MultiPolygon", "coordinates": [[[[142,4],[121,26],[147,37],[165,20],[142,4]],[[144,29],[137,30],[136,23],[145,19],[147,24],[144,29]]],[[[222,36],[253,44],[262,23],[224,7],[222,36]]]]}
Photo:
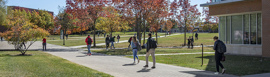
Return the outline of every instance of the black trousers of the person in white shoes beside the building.
{"type": "Polygon", "coordinates": [[[222,59],[223,54],[216,52],[215,53],[215,61],[216,61],[216,68],[217,72],[219,72],[219,66],[223,69],[223,65],[220,63],[220,60],[222,59]]]}

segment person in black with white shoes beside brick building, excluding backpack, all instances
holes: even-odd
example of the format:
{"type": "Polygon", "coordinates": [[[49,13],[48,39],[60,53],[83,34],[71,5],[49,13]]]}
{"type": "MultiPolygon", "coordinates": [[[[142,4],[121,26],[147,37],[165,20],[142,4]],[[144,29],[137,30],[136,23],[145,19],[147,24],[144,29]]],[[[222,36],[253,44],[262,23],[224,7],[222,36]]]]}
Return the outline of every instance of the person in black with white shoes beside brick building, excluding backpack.
{"type": "Polygon", "coordinates": [[[222,41],[218,40],[217,36],[215,36],[213,39],[215,41],[213,49],[215,50],[215,61],[216,61],[216,68],[217,68],[217,72],[215,72],[214,74],[219,74],[219,66],[222,68],[222,73],[221,74],[224,74],[226,69],[223,67],[222,63],[220,63],[220,60],[222,59],[222,55],[224,55],[224,53],[219,53],[218,52],[218,50],[220,50],[219,48],[221,48],[219,46],[221,45],[220,43],[222,41]]]}

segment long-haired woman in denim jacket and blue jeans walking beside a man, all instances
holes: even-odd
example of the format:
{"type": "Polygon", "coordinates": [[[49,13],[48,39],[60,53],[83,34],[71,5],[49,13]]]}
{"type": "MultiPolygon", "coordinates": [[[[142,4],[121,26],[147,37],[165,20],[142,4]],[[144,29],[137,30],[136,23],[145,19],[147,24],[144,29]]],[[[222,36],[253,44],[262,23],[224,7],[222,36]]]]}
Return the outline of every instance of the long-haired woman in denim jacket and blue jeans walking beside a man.
{"type": "Polygon", "coordinates": [[[137,58],[138,63],[140,62],[140,60],[139,60],[139,58],[137,56],[137,53],[138,53],[137,44],[138,43],[139,43],[139,41],[136,39],[136,36],[133,36],[132,41],[131,41],[131,48],[132,48],[132,51],[133,51],[133,59],[134,59],[133,63],[135,63],[135,57],[137,58]]]}

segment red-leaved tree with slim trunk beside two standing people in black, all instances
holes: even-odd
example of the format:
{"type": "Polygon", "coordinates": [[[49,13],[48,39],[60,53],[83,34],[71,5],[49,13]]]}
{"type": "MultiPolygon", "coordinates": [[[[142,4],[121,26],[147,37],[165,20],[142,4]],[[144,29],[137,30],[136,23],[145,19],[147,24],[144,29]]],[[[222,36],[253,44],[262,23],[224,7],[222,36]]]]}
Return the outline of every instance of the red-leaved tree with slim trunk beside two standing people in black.
{"type": "MultiPolygon", "coordinates": [[[[201,13],[196,8],[197,5],[190,5],[190,0],[174,0],[171,3],[171,12],[174,14],[181,25],[185,28],[185,38],[186,38],[186,29],[190,27],[193,21],[196,21],[200,17],[201,13]]],[[[184,40],[186,45],[186,40],[184,40]]]]}

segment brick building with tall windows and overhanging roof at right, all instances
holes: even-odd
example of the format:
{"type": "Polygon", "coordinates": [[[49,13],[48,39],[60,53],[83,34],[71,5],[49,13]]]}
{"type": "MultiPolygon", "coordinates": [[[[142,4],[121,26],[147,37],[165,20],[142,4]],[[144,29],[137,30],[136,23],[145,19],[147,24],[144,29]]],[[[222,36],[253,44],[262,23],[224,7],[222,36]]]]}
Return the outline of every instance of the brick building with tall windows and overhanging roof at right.
{"type": "Polygon", "coordinates": [[[270,0],[212,0],[200,6],[219,17],[226,53],[270,57],[270,0]]]}

